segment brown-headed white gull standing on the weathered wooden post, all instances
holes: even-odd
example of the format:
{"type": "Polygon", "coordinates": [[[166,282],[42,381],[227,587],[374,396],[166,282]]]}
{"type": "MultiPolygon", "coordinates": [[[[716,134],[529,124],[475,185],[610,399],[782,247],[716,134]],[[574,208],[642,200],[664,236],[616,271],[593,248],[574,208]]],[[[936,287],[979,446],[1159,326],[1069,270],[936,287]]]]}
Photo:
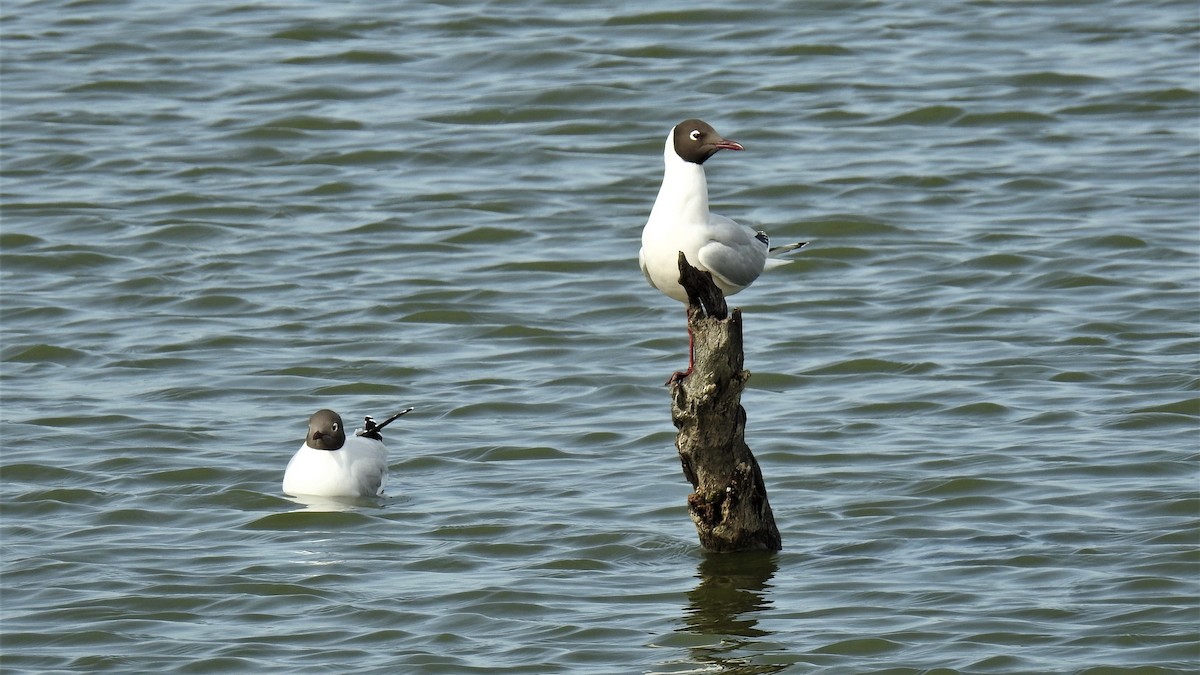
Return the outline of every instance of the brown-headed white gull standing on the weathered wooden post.
{"type": "MultiPolygon", "coordinates": [[[[667,135],[662,150],[666,165],[662,186],[642,229],[638,261],[650,286],[676,300],[688,301],[688,294],[679,286],[680,252],[692,267],[710,271],[718,288],[732,295],[754,283],[764,269],[791,262],[775,256],[808,244],[772,247],[766,232],[755,232],[708,211],[704,160],[718,150],[743,149],[740,143],[721,138],[715,129],[697,119],[677,124],[667,135]]],[[[677,372],[672,380],[691,374],[690,327],[688,338],[688,370],[677,372]]]]}

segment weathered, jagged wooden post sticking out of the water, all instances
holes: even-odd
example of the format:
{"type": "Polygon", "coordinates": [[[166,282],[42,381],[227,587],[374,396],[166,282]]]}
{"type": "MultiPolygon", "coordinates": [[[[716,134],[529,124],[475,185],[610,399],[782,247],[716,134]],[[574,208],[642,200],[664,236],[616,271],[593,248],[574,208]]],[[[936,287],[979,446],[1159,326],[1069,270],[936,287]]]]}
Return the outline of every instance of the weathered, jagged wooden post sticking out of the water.
{"type": "Polygon", "coordinates": [[[688,292],[692,372],[671,382],[671,419],[683,474],[692,485],[688,512],[700,544],[710,551],[778,551],[782,548],[767,486],[745,443],[742,389],[742,311],[731,313],[712,274],[679,253],[679,283],[688,292]]]}

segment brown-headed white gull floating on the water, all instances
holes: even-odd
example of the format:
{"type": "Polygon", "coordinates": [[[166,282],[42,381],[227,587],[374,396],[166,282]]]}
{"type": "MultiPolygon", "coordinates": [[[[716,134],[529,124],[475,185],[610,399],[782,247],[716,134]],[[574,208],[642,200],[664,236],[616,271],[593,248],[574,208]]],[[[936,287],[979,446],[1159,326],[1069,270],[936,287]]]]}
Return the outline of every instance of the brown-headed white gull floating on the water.
{"type": "Polygon", "coordinates": [[[403,410],[382,424],[367,417],[364,429],[346,436],[342,416],[319,410],[308,418],[308,436],[283,473],[283,491],[314,497],[374,497],[388,480],[388,450],[379,431],[403,410]]]}

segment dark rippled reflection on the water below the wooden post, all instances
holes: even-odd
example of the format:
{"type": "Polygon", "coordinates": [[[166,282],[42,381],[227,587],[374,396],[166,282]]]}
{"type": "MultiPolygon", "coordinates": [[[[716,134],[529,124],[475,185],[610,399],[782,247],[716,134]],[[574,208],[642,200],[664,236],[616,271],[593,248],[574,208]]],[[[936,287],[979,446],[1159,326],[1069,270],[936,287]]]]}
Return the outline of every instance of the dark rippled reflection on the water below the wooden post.
{"type": "Polygon", "coordinates": [[[706,673],[752,675],[780,673],[790,663],[764,663],[776,646],[758,647],[770,632],[758,628],[760,616],[773,607],[770,579],[779,571],[773,552],[706,554],[688,593],[684,626],[679,632],[720,637],[689,647],[706,673]],[[715,669],[713,669],[715,667],[715,669]]]}

